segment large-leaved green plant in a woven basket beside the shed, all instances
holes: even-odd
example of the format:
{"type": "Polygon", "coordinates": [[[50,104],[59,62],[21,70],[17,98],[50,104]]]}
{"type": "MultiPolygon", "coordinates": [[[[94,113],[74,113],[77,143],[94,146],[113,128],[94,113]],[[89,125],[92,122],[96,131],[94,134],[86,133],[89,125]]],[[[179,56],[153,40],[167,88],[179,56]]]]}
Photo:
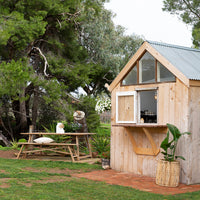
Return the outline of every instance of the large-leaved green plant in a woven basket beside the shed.
{"type": "Polygon", "coordinates": [[[177,143],[182,135],[190,135],[191,133],[181,133],[179,129],[172,124],[167,124],[167,127],[167,136],[160,145],[163,150],[161,153],[164,155],[164,159],[158,161],[156,170],[156,184],[161,186],[177,187],[179,185],[180,162],[176,159],[180,158],[185,160],[183,156],[175,155],[177,143]],[[171,141],[169,141],[170,133],[172,134],[171,141]]]}

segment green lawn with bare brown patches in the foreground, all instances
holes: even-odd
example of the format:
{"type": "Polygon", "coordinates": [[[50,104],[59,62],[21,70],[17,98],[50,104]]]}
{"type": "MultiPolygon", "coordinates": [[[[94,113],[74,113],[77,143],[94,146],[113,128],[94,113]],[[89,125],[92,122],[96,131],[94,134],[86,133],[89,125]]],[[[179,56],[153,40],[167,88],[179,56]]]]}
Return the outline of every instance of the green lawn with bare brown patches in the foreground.
{"type": "Polygon", "coordinates": [[[0,158],[0,199],[8,200],[187,200],[200,199],[200,191],[163,196],[130,187],[72,177],[73,173],[101,170],[99,165],[61,161],[0,158]]]}

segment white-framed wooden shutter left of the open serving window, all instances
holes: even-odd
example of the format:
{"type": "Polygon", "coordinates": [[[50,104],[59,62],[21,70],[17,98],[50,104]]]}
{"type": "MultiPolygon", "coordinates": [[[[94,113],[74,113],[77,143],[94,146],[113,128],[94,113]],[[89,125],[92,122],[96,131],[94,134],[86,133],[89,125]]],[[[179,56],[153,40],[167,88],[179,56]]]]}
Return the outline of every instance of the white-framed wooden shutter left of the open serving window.
{"type": "Polygon", "coordinates": [[[136,123],[136,92],[116,93],[116,122],[136,123]]]}

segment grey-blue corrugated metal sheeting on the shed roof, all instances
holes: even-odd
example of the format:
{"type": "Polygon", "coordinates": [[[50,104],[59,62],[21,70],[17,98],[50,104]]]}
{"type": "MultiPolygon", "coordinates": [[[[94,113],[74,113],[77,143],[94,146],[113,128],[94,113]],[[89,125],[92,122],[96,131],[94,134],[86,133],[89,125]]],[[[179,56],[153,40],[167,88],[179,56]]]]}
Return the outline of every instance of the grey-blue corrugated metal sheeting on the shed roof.
{"type": "Polygon", "coordinates": [[[200,50],[147,41],[188,79],[200,80],[200,50]]]}

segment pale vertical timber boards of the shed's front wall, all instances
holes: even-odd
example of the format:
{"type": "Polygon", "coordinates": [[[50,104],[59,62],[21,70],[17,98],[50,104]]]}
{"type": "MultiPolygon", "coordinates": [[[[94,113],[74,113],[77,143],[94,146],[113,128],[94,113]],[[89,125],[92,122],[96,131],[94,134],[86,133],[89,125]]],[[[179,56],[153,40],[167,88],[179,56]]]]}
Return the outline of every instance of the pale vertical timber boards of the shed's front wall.
{"type": "MultiPolygon", "coordinates": [[[[135,91],[136,88],[155,88],[158,87],[158,125],[166,123],[175,124],[181,131],[188,130],[188,88],[178,79],[176,83],[160,83],[150,85],[137,85],[120,87],[120,84],[112,91],[112,133],[111,133],[111,167],[120,171],[128,171],[136,174],[155,177],[157,156],[137,155],[133,150],[128,133],[124,127],[116,127],[116,92],[135,91]]],[[[143,148],[149,148],[151,145],[146,135],[141,129],[131,128],[137,145],[143,148]],[[135,130],[135,131],[134,131],[135,130]]],[[[156,129],[155,129],[156,131],[156,129]]],[[[166,136],[163,133],[151,134],[156,146],[159,147],[166,136]]],[[[187,148],[188,141],[183,138],[178,145],[178,152],[186,158],[181,172],[183,182],[188,179],[187,174],[187,148]]]]}

